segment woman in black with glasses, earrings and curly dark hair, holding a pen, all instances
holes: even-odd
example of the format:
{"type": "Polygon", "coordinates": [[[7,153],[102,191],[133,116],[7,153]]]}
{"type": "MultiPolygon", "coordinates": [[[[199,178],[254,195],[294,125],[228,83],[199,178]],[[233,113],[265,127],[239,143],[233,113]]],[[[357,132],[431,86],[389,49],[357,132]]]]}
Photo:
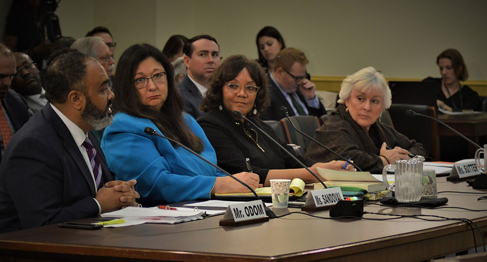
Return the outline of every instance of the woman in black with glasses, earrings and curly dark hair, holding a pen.
{"type": "MultiPolygon", "coordinates": [[[[228,57],[210,77],[210,88],[201,103],[201,110],[206,113],[198,118],[198,123],[215,148],[218,164],[230,173],[238,173],[247,170],[245,160],[249,158],[252,171],[260,176],[264,186],[270,185],[270,179],[318,182],[253,125],[233,117],[233,111],[240,111],[279,141],[273,129],[258,118],[269,105],[266,79],[262,67],[243,55],[228,57]]],[[[316,175],[317,167],[340,170],[345,164],[345,161],[318,163],[297,155],[284,141],[279,142],[316,175]]],[[[352,165],[346,170],[355,171],[352,165]]]]}

